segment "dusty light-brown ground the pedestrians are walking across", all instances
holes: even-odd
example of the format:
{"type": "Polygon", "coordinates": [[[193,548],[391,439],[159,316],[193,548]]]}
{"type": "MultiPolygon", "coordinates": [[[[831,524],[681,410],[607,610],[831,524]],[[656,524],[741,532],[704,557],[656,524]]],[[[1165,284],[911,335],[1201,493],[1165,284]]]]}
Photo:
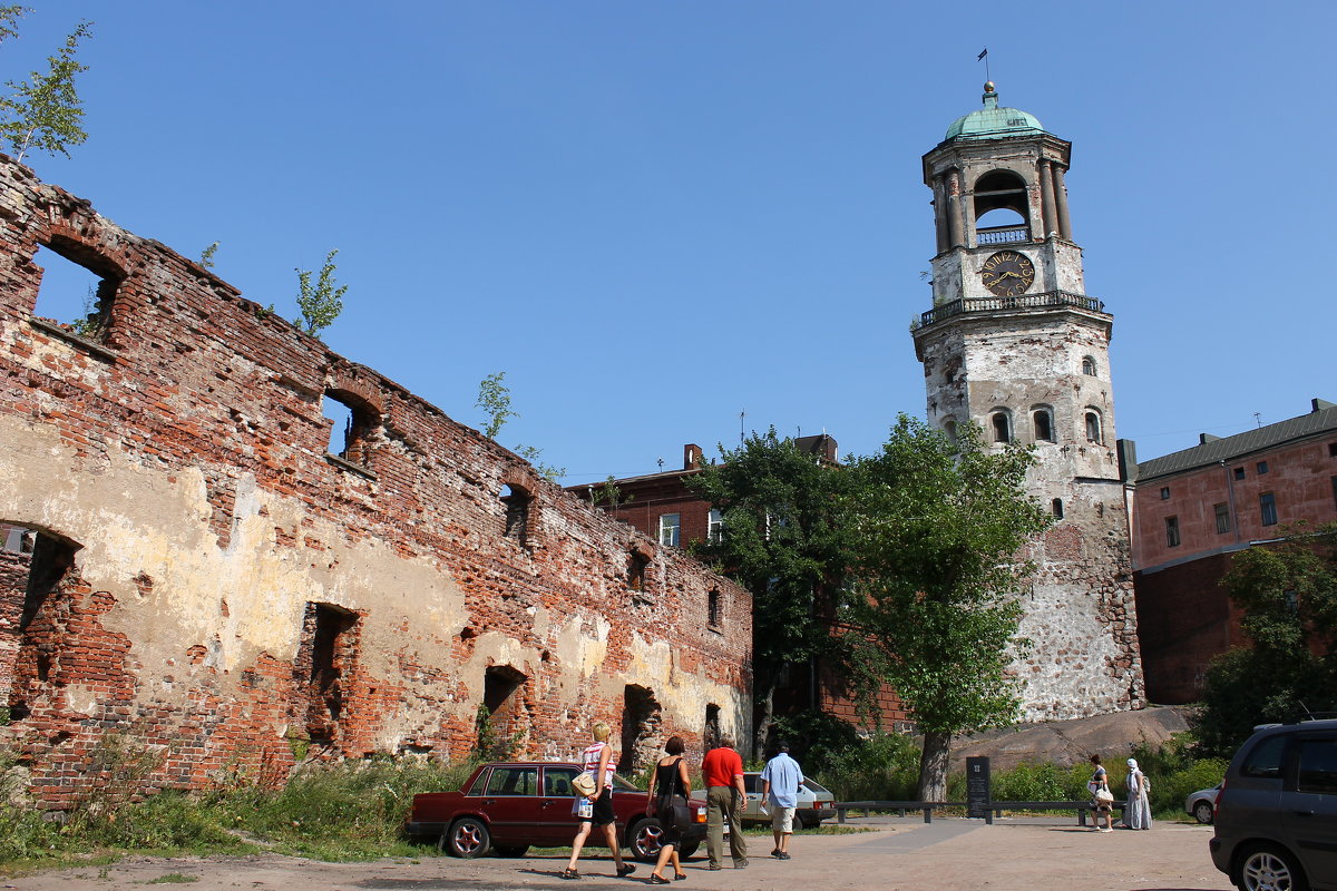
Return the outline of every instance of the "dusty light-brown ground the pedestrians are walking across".
{"type": "MultiPolygon", "coordinates": [[[[792,860],[769,856],[769,839],[749,836],[751,863],[746,871],[726,866],[706,870],[702,851],[685,864],[687,880],[677,888],[738,891],[1229,891],[1226,876],[1207,854],[1211,827],[1159,823],[1148,832],[1092,832],[1075,820],[983,820],[920,818],[850,819],[874,831],[854,835],[796,836],[792,860]]],[[[727,858],[726,858],[727,863],[727,858]]],[[[600,851],[583,859],[579,883],[558,872],[566,856],[477,860],[429,858],[373,863],[317,863],[273,855],[246,858],[159,859],[128,858],[110,867],[62,870],[19,879],[0,879],[0,888],[70,891],[96,888],[142,891],[146,884],[189,879],[193,891],[433,891],[436,888],[571,888],[648,884],[647,864],[628,879],[612,876],[612,860],[600,851]],[[166,880],[163,876],[168,876],[166,880]]]]}

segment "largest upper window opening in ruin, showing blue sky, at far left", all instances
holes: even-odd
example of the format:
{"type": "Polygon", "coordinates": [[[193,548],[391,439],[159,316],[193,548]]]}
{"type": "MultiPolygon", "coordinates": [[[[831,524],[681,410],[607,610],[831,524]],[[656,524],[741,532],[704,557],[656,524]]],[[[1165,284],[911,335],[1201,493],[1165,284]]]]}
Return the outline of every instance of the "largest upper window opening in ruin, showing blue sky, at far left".
{"type": "Polygon", "coordinates": [[[63,240],[39,246],[33,262],[41,267],[33,317],[90,341],[104,339],[119,274],[83,244],[63,240]]]}

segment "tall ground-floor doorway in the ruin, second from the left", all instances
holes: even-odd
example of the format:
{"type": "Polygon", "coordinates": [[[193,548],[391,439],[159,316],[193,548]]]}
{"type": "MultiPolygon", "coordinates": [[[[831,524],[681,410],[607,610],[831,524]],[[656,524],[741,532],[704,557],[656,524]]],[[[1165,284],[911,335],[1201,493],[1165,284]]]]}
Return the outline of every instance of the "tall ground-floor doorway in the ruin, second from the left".
{"type": "Polygon", "coordinates": [[[312,743],[334,741],[357,665],[358,614],[332,604],[306,604],[298,680],[306,691],[306,733],[312,743]]]}

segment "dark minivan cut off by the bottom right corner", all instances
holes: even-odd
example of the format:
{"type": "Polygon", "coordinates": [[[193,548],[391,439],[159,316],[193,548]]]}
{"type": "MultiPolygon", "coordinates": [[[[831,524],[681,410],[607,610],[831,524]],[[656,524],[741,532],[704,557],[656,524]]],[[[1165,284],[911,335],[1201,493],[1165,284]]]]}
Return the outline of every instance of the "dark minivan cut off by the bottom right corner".
{"type": "Polygon", "coordinates": [[[1241,891],[1337,891],[1337,720],[1259,729],[1217,796],[1211,860],[1241,891]]]}

